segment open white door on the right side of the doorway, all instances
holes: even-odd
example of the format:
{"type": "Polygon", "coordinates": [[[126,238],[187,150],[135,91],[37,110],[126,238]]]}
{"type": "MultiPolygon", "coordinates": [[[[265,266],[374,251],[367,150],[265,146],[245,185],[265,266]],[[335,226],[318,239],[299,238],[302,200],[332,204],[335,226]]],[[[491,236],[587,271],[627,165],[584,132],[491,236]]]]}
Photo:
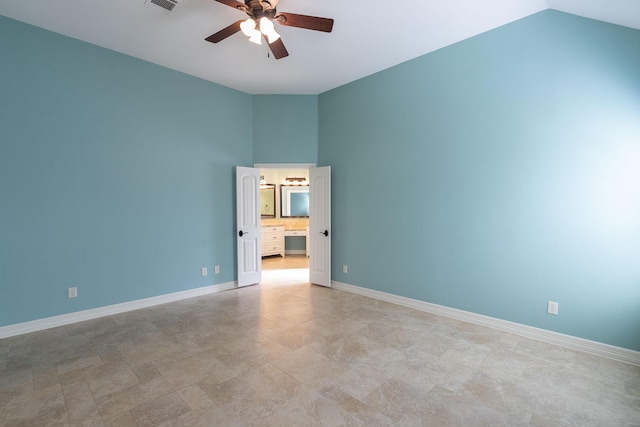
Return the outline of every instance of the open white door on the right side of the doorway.
{"type": "Polygon", "coordinates": [[[309,169],[309,281],[331,286],[331,166],[309,169]]]}

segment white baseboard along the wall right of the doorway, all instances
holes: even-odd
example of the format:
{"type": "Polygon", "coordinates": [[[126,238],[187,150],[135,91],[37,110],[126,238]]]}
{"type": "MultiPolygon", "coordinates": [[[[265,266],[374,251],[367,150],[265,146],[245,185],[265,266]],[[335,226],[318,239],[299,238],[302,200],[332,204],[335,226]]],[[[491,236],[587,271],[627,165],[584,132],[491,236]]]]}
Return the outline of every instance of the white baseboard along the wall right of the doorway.
{"type": "Polygon", "coordinates": [[[583,351],[585,353],[594,354],[596,356],[602,356],[609,359],[617,360],[619,362],[640,366],[639,351],[616,347],[613,345],[591,341],[584,338],[578,338],[571,335],[560,334],[558,332],[552,332],[545,329],[534,328],[533,326],[509,322],[507,320],[501,320],[495,317],[483,316],[481,314],[445,307],[438,304],[432,304],[425,301],[388,294],[386,292],[367,289],[360,286],[348,285],[346,283],[335,281],[331,282],[331,284],[335,289],[339,289],[341,291],[351,292],[354,294],[402,305],[404,307],[413,308],[427,313],[450,317],[452,319],[461,320],[463,322],[474,323],[476,325],[486,326],[500,331],[509,332],[525,338],[531,338],[538,341],[547,342],[549,344],[556,344],[572,350],[583,351]]]}

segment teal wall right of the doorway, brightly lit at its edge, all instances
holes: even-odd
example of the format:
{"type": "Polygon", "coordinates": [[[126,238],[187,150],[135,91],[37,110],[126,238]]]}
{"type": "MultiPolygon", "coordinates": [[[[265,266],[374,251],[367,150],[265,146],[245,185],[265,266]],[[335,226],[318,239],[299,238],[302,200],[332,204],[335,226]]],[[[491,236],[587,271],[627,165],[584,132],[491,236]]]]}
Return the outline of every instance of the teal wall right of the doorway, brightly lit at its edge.
{"type": "Polygon", "coordinates": [[[542,12],[319,117],[334,280],[640,350],[640,31],[542,12]]]}

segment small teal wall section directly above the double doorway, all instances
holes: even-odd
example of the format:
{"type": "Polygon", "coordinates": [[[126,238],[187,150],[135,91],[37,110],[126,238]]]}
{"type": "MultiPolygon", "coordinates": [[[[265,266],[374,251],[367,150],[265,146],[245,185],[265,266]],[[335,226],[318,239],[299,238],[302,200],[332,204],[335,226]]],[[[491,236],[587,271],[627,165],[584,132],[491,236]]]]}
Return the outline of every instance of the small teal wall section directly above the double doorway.
{"type": "Polygon", "coordinates": [[[253,150],[255,163],[316,163],[318,97],[255,95],[253,150]]]}

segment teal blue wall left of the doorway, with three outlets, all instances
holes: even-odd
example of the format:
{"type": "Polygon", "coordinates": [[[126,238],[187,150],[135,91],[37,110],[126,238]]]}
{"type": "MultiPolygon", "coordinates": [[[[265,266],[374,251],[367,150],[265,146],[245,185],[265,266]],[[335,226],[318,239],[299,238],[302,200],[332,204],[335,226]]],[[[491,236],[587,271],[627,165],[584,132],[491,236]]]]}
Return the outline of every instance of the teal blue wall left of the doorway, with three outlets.
{"type": "Polygon", "coordinates": [[[234,280],[250,95],[3,17],[0,58],[0,326],[234,280]]]}

